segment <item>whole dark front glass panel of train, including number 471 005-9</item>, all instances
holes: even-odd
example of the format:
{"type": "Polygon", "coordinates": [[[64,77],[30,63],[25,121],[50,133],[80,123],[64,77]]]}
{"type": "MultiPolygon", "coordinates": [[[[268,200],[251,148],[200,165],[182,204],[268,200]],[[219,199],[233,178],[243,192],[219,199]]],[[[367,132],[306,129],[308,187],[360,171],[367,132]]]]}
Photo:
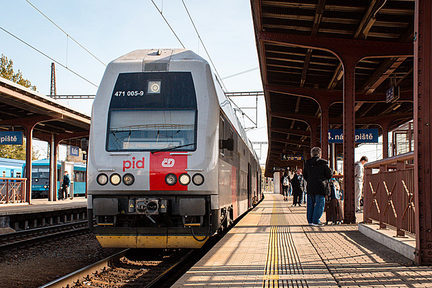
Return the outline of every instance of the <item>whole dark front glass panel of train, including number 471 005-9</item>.
{"type": "Polygon", "coordinates": [[[120,73],[108,109],[107,151],[195,151],[197,97],[190,72],[120,73]]]}

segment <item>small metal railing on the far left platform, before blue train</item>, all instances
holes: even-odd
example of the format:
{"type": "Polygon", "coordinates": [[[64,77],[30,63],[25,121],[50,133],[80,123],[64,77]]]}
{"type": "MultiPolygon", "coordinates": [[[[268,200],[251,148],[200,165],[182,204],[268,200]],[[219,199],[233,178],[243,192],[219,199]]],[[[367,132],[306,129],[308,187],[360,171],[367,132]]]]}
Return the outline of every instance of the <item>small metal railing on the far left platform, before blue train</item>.
{"type": "Polygon", "coordinates": [[[0,203],[24,203],[26,180],[0,177],[0,203]]]}

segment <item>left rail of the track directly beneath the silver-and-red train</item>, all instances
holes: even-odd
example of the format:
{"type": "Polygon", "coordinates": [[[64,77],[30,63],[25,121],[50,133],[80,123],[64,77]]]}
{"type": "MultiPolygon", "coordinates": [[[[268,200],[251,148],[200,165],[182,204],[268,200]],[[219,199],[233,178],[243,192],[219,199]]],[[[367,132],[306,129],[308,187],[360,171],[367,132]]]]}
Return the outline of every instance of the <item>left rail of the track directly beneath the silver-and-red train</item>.
{"type": "Polygon", "coordinates": [[[106,259],[102,259],[101,261],[88,265],[82,269],[79,269],[71,274],[67,274],[62,278],[58,278],[57,280],[53,280],[50,283],[47,283],[39,288],[58,288],[58,287],[72,287],[76,284],[73,280],[77,280],[80,283],[81,279],[89,278],[91,274],[97,272],[99,270],[104,270],[105,267],[109,267],[112,263],[118,262],[122,257],[125,256],[126,252],[129,249],[123,250],[117,254],[107,257],[106,259]]]}

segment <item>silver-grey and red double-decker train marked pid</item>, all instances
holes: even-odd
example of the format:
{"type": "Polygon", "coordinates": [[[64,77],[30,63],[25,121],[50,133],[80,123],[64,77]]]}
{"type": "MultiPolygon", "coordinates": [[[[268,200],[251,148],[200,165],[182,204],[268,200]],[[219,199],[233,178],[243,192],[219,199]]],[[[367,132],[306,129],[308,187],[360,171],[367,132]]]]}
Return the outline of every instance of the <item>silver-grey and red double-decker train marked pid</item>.
{"type": "Polygon", "coordinates": [[[88,151],[103,247],[199,248],[259,197],[259,161],[206,60],[145,49],[108,64],[88,151]]]}

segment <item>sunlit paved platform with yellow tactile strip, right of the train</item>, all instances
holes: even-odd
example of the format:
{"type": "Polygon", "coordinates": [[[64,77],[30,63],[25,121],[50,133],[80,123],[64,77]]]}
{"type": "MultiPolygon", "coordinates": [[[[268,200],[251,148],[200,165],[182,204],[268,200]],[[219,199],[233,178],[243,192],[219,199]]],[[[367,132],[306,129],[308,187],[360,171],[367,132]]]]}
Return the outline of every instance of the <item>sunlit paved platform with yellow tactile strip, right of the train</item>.
{"type": "Polygon", "coordinates": [[[357,225],[309,226],[306,207],[291,203],[266,194],[173,287],[432,287],[432,267],[413,266],[357,225]]]}

